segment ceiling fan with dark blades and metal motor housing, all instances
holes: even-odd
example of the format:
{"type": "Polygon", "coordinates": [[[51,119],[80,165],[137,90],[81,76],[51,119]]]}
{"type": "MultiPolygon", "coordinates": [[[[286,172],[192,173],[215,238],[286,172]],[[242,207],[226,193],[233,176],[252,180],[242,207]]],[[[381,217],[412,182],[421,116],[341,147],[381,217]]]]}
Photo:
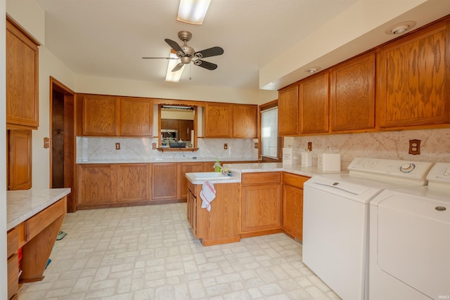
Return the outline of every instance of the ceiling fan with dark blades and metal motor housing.
{"type": "MultiPolygon", "coordinates": [[[[220,56],[224,54],[224,49],[221,47],[212,47],[207,48],[202,51],[195,52],[194,48],[188,46],[187,42],[191,40],[192,34],[186,30],[178,32],[178,37],[181,41],[184,42],[183,46],[179,46],[176,41],[172,41],[172,39],[165,39],[165,42],[169,44],[169,46],[175,51],[177,58],[162,58],[162,59],[180,59],[181,62],[176,65],[172,72],[176,72],[181,69],[184,65],[188,65],[193,62],[194,65],[198,65],[200,67],[204,67],[207,70],[216,70],[217,65],[215,63],[210,63],[200,58],[209,58],[211,56],[220,56]]],[[[143,58],[143,59],[160,59],[160,58],[143,58]]]]}

